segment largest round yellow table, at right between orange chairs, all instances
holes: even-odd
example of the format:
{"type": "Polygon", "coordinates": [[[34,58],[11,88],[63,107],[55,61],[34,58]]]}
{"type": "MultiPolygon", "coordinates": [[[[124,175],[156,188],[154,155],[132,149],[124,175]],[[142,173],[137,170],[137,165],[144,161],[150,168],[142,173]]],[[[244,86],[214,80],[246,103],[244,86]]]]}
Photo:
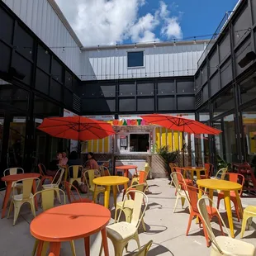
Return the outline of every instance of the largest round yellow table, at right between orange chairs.
{"type": "MultiPolygon", "coordinates": [[[[232,183],[229,181],[221,180],[221,179],[200,179],[197,180],[198,188],[206,187],[209,189],[209,197],[212,200],[213,191],[214,190],[221,190],[224,193],[224,200],[225,200],[225,210],[228,216],[229,225],[230,225],[230,233],[231,236],[234,238],[234,225],[232,219],[232,211],[231,211],[231,204],[230,204],[230,191],[235,191],[236,200],[239,205],[239,213],[241,218],[243,218],[243,207],[241,203],[241,199],[239,197],[239,190],[242,189],[242,185],[239,183],[232,183]]],[[[199,198],[201,198],[201,190],[199,191],[199,198]]]]}

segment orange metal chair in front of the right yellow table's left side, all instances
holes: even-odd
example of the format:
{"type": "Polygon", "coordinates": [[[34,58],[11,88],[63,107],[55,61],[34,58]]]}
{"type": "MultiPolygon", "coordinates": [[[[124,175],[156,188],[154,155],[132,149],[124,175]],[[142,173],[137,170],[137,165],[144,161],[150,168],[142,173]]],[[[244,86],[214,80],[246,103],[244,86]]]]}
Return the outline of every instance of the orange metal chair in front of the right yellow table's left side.
{"type": "MultiPolygon", "coordinates": [[[[206,237],[206,245],[207,245],[207,247],[209,247],[210,242],[209,242],[209,237],[208,237],[207,230],[206,230],[206,225],[205,225],[205,223],[204,223],[204,221],[201,217],[201,214],[199,213],[198,208],[197,208],[197,201],[198,201],[197,193],[199,192],[199,190],[200,189],[197,188],[197,187],[187,186],[187,192],[188,192],[188,196],[189,196],[188,201],[190,203],[191,209],[190,209],[190,216],[189,216],[189,220],[188,220],[186,235],[188,235],[188,232],[190,230],[193,217],[197,216],[198,220],[199,220],[199,226],[200,227],[201,227],[201,223],[202,223],[203,232],[204,232],[204,235],[206,237]]],[[[204,191],[201,190],[201,193],[203,195],[204,191]]],[[[218,215],[216,208],[212,207],[212,206],[207,206],[207,212],[208,212],[210,220],[214,216],[216,216],[218,218],[221,233],[222,233],[222,235],[224,235],[223,230],[222,230],[222,224],[221,224],[220,216],[218,215]]]]}

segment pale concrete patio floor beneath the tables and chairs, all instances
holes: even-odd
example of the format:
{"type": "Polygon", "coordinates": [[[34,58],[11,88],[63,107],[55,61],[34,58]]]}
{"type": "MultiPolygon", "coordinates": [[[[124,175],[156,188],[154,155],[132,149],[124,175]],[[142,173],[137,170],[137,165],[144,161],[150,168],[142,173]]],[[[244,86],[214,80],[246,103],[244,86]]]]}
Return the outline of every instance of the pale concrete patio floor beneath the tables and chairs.
{"type": "MultiPolygon", "coordinates": [[[[181,203],[178,204],[177,212],[173,214],[173,205],[175,201],[174,188],[168,185],[168,179],[158,178],[149,180],[149,207],[145,213],[145,224],[147,231],[143,232],[140,228],[140,244],[147,243],[153,239],[154,244],[149,250],[149,256],[154,255],[210,255],[211,248],[206,247],[206,240],[202,231],[192,222],[191,230],[188,236],[185,235],[188,221],[188,209],[182,209],[181,203]]],[[[2,203],[3,197],[0,198],[2,203]]],[[[103,197],[100,202],[102,203],[103,197]]],[[[121,195],[118,198],[121,201],[121,195]]],[[[215,197],[216,200],[216,197],[215,197]]],[[[256,205],[256,198],[242,198],[243,206],[256,205]]],[[[112,204],[112,198],[111,198],[112,204]]],[[[220,212],[225,217],[223,205],[220,206],[220,212]]],[[[234,210],[234,208],[233,208],[234,210]]],[[[234,212],[234,211],[233,211],[234,212]]],[[[37,212],[39,214],[40,211],[37,212]]],[[[114,210],[112,208],[111,215],[114,210]]],[[[235,216],[235,214],[233,214],[235,216]]],[[[0,229],[0,255],[12,256],[28,256],[34,245],[34,238],[30,234],[29,225],[33,219],[28,206],[23,206],[21,215],[17,220],[17,224],[12,226],[12,216],[10,219],[4,218],[1,220],[0,229]]],[[[239,239],[241,223],[236,221],[235,236],[239,239]]],[[[111,220],[112,222],[112,220],[111,220]]],[[[47,225],[47,223],[45,223],[47,225]]],[[[254,227],[255,224],[253,224],[254,227]]],[[[214,230],[218,234],[219,226],[213,223],[214,230]]],[[[256,246],[256,233],[254,229],[246,230],[244,234],[244,241],[252,243],[256,246]]],[[[110,255],[114,255],[111,241],[109,241],[110,255]]],[[[93,235],[91,237],[91,255],[96,256],[99,253],[101,244],[101,236],[93,235]]],[[[77,255],[84,255],[83,240],[76,240],[75,247],[77,255]]],[[[132,252],[136,249],[135,241],[131,241],[128,247],[132,252]]],[[[69,243],[62,244],[61,255],[71,255],[69,243]]]]}

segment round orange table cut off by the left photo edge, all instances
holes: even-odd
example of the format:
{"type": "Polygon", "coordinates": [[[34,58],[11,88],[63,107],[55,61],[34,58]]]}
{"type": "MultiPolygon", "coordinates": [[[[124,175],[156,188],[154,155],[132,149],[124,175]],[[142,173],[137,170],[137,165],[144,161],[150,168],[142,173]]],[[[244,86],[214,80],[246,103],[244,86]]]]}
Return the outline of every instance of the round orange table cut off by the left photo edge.
{"type": "MultiPolygon", "coordinates": [[[[5,192],[4,200],[3,200],[3,204],[2,204],[2,218],[5,216],[7,204],[8,204],[11,192],[12,192],[12,183],[17,182],[18,180],[23,179],[23,178],[40,178],[40,174],[39,173],[20,173],[20,174],[7,175],[7,176],[4,176],[1,178],[3,182],[7,183],[7,190],[5,192]]],[[[34,181],[34,183],[33,183],[32,193],[33,194],[36,193],[36,181],[34,181]]],[[[37,211],[36,197],[35,197],[35,206],[36,206],[36,211],[37,211]]]]}

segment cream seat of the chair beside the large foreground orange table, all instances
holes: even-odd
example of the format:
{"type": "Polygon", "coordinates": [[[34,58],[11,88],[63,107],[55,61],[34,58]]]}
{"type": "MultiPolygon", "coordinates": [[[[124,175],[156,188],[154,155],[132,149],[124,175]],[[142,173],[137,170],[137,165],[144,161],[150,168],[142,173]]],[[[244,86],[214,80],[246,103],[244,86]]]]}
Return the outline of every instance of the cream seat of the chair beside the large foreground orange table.
{"type": "Polygon", "coordinates": [[[126,221],[117,222],[107,226],[107,236],[116,241],[129,239],[130,237],[133,237],[136,232],[137,227],[126,221]]]}

